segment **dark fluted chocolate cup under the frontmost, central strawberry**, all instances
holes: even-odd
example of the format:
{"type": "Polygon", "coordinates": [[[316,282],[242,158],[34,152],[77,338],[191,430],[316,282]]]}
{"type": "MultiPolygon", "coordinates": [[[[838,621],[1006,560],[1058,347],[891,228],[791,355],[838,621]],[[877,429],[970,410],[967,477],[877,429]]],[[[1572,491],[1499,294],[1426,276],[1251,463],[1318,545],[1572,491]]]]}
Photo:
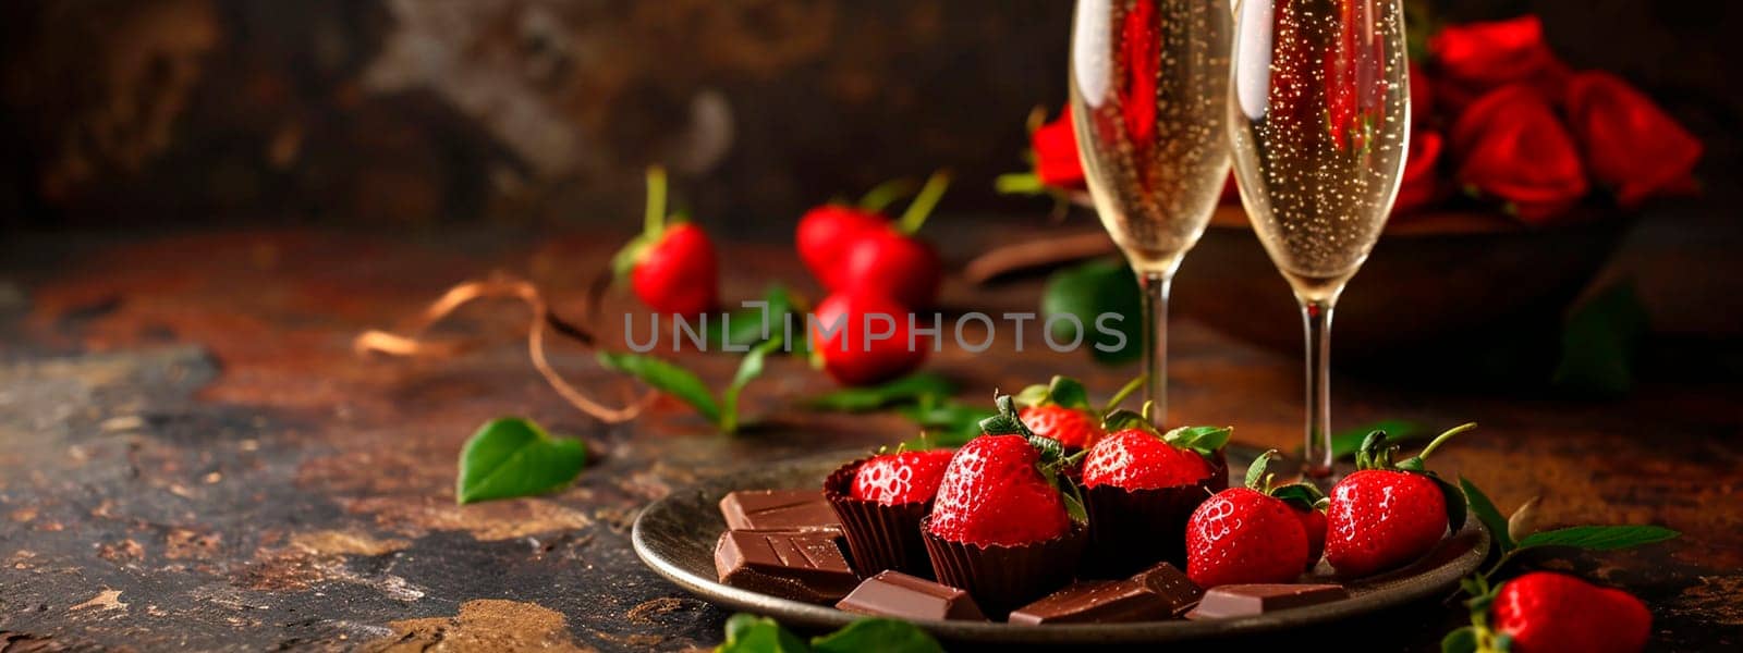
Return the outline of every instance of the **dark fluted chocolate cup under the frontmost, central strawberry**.
{"type": "Polygon", "coordinates": [[[981,611],[997,620],[1068,585],[1089,536],[1088,526],[1074,521],[1070,531],[1053,540],[981,547],[933,535],[931,519],[920,521],[920,536],[938,582],[967,590],[981,611]]]}

